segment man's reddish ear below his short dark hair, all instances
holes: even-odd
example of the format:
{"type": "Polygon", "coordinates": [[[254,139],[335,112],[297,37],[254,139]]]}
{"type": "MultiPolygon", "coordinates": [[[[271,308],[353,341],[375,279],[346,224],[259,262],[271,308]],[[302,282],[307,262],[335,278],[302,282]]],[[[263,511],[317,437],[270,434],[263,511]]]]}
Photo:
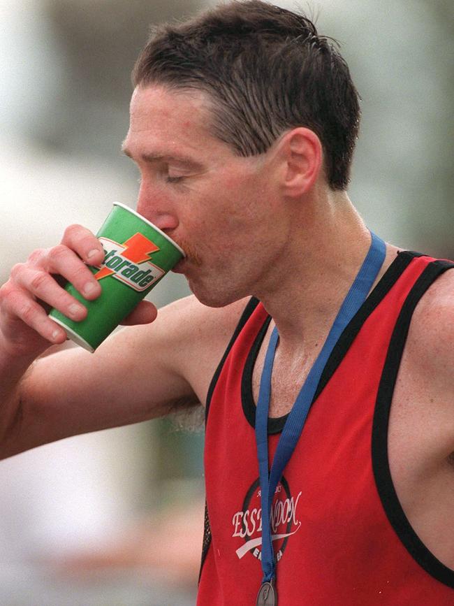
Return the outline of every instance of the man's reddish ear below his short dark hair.
{"type": "Polygon", "coordinates": [[[321,141],[314,131],[298,127],[279,142],[281,187],[292,198],[305,194],[316,182],[323,166],[321,141]]]}

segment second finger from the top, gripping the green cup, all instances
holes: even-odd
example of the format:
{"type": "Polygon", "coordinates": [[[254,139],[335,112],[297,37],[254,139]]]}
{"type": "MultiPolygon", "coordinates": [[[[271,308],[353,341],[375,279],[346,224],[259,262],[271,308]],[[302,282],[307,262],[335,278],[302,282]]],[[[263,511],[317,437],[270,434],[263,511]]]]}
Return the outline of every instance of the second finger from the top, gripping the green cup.
{"type": "Polygon", "coordinates": [[[49,273],[62,275],[90,301],[101,294],[101,286],[89,268],[73,250],[62,244],[48,251],[46,269],[49,273]]]}

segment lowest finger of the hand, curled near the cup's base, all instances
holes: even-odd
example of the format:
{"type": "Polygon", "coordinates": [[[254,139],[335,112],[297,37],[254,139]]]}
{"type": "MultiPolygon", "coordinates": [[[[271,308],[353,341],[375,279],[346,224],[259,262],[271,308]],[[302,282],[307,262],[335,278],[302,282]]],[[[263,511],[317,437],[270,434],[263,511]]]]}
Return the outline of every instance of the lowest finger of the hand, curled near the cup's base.
{"type": "Polygon", "coordinates": [[[20,289],[15,289],[9,294],[4,302],[4,310],[10,316],[22,320],[51,343],[63,343],[66,340],[66,333],[61,326],[52,322],[41,305],[20,289]]]}

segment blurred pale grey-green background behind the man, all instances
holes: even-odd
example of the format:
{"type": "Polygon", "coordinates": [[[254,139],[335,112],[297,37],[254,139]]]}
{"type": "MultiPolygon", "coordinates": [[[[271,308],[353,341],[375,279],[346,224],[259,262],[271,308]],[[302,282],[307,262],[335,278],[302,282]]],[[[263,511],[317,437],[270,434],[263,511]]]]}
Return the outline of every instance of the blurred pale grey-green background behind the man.
{"type": "MultiPolygon", "coordinates": [[[[276,2],[295,8],[293,2],[276,2]]],[[[149,24],[202,0],[0,0],[0,284],[36,247],[112,201],[134,205],[122,157],[130,72],[149,24]]],[[[454,258],[452,0],[318,0],[363,99],[351,199],[383,238],[454,258]]],[[[158,306],[188,294],[171,275],[158,306]]],[[[2,606],[195,603],[203,432],[158,420],[0,462],[2,606]]]]}

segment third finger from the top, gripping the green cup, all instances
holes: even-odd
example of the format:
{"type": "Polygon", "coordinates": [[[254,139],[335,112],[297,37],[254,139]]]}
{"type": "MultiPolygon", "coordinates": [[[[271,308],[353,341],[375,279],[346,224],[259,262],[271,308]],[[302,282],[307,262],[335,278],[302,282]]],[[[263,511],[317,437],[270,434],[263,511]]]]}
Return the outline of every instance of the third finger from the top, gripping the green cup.
{"type": "Polygon", "coordinates": [[[85,305],[62,289],[54,278],[43,270],[24,265],[20,273],[15,276],[15,283],[76,322],[87,316],[85,305]]]}

